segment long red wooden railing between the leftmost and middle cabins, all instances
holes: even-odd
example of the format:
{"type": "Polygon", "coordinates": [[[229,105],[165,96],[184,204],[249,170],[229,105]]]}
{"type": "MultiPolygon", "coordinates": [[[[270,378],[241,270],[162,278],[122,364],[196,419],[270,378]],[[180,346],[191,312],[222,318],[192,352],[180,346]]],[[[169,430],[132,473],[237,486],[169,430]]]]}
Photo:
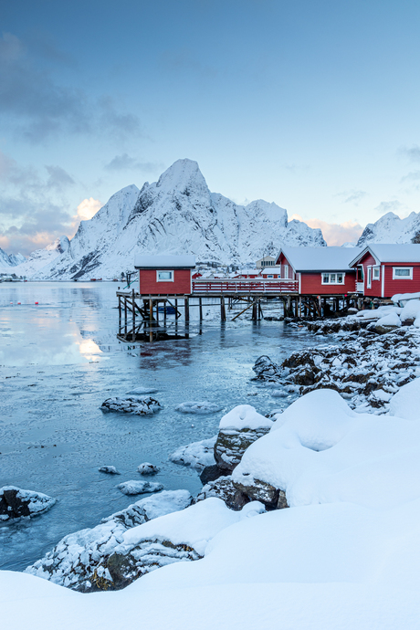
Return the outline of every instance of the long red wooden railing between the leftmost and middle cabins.
{"type": "Polygon", "coordinates": [[[298,280],[257,278],[196,278],[194,293],[298,293],[298,280]]]}

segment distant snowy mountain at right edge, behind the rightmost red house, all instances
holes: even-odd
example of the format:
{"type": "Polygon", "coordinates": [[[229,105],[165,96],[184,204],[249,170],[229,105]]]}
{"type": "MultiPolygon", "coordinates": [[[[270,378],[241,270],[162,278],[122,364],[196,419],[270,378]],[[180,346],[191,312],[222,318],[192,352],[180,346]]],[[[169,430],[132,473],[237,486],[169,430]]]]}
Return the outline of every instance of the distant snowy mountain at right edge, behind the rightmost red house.
{"type": "Polygon", "coordinates": [[[420,212],[412,212],[404,219],[388,212],[375,223],[368,223],[357,243],[420,243],[420,212]]]}

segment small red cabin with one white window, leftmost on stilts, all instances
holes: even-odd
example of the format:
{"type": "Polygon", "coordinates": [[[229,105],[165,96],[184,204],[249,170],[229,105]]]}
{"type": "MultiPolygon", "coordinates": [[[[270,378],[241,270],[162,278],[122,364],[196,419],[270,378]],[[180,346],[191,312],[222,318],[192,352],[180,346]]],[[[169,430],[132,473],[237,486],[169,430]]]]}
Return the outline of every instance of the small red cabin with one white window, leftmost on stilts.
{"type": "Polygon", "coordinates": [[[139,270],[139,293],[142,296],[190,295],[194,256],[136,256],[139,270]]]}

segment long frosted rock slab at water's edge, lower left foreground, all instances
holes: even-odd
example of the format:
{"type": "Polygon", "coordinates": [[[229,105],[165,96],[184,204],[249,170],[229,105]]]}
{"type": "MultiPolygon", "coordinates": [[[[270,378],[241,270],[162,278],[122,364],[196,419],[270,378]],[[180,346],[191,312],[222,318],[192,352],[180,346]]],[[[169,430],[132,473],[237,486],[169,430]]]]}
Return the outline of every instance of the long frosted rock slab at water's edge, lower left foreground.
{"type": "Polygon", "coordinates": [[[26,572],[81,593],[113,591],[108,560],[132,527],[191,505],[187,490],[163,491],[103,519],[100,525],[65,536],[26,572]]]}

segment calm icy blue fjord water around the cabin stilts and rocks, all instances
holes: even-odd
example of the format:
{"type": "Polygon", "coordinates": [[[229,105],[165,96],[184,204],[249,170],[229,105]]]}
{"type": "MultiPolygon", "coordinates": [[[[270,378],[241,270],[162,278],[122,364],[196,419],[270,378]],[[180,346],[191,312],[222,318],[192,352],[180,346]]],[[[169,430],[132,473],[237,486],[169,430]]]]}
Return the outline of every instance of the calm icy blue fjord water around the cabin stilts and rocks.
{"type": "Polygon", "coordinates": [[[214,436],[220,417],[236,404],[252,404],[261,414],[287,406],[290,397],[275,398],[272,388],[250,380],[252,366],[261,354],[279,362],[314,345],[313,335],[279,321],[222,325],[217,306],[208,306],[203,334],[197,334],[192,307],[190,339],[133,347],[116,338],[116,288],[112,282],[0,285],[0,487],[58,499],[37,518],[0,521],[1,569],[21,571],[66,534],[142,499],[115,486],[141,479],[136,469],[143,461],[161,468],[153,480],[165,489],[197,492],[197,473],[168,456],[214,436]],[[156,388],[153,397],[163,407],[158,414],[100,411],[106,398],[140,386],[156,388]],[[175,411],[186,401],[223,409],[211,415],[175,411]],[[121,476],[100,473],[104,465],[121,476]]]}

